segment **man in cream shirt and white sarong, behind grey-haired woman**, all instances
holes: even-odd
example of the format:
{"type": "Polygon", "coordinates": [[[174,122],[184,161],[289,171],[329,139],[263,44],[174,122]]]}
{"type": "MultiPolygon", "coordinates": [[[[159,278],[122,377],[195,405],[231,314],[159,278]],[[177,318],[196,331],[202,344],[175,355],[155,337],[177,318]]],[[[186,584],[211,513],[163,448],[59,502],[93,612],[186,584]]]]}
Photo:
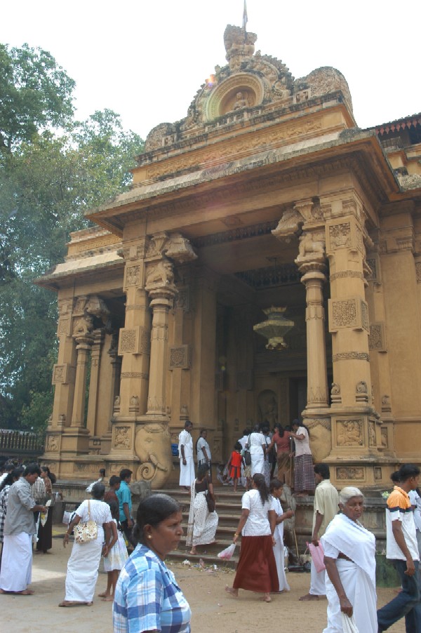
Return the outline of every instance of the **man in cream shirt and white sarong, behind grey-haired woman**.
{"type": "MultiPolygon", "coordinates": [[[[333,517],[338,514],[339,495],[335,486],[330,484],[330,470],[327,464],[314,466],[314,478],[316,479],[316,492],[314,493],[312,543],[319,547],[319,539],[326,532],[333,517]]],[[[326,598],[325,574],[324,569],[319,572],[316,570],[312,560],[310,590],[308,594],[300,597],[300,601],[307,602],[326,598]]]]}

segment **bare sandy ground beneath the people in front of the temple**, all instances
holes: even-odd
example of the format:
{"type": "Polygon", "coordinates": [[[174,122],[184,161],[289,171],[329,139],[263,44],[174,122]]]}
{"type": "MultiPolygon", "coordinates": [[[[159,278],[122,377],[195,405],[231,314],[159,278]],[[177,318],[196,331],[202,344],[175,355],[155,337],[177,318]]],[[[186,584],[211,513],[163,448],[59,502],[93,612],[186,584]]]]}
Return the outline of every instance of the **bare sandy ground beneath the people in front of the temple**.
{"type": "MultiPolygon", "coordinates": [[[[64,549],[62,541],[55,538],[51,552],[34,556],[33,596],[0,595],[0,631],[68,633],[77,627],[86,633],[112,633],[112,604],[109,602],[95,598],[91,607],[58,608],[58,603],[64,598],[70,547],[64,549]]],[[[298,597],[308,592],[309,573],[288,573],[291,591],[274,595],[272,603],[265,604],[260,601],[258,594],[241,590],[239,599],[229,597],[225,585],[232,585],[233,571],[224,568],[215,571],[211,567],[188,568],[180,563],[170,566],[192,608],[193,632],[285,630],[288,633],[321,633],[326,626],[326,601],[298,601],[298,597]]],[[[102,571],[96,593],[105,589],[106,584],[107,576],[102,571]]],[[[394,595],[394,589],[378,589],[379,606],[394,595]]],[[[389,631],[403,633],[403,620],[389,631]]]]}

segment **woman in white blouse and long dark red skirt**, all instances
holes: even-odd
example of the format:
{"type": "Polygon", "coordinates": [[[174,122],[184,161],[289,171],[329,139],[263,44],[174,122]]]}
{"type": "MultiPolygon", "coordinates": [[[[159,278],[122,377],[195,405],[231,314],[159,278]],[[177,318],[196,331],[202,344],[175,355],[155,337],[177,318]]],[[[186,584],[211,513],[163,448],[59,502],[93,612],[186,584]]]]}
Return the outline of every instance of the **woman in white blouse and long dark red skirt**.
{"type": "Polygon", "coordinates": [[[237,598],[239,589],[247,589],[264,594],[263,600],[270,602],[270,593],[279,591],[273,550],[276,512],[264,475],[253,475],[252,489],[243,494],[241,508],[233,538],[236,543],[241,532],[240,558],[232,587],[225,587],[225,590],[237,598]]]}

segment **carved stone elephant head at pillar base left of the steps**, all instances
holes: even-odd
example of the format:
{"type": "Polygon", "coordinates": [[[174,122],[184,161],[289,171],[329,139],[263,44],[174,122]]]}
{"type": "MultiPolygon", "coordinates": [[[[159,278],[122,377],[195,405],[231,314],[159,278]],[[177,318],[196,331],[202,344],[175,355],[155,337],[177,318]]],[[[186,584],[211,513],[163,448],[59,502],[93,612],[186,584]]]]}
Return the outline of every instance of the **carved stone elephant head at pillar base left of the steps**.
{"type": "Polygon", "coordinates": [[[136,479],[152,481],[152,488],[161,488],[173,469],[171,433],[168,425],[140,425],[136,429],[135,453],[141,462],[136,479]]]}

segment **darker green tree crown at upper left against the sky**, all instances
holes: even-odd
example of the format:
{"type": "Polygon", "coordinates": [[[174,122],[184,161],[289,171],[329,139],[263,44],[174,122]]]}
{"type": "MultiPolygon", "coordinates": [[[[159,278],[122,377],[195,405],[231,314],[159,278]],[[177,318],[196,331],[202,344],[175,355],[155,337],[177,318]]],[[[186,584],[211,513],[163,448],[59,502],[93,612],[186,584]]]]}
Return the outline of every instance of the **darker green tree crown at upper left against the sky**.
{"type": "Polygon", "coordinates": [[[0,149],[72,122],[74,81],[41,48],[0,44],[0,149]]]}

